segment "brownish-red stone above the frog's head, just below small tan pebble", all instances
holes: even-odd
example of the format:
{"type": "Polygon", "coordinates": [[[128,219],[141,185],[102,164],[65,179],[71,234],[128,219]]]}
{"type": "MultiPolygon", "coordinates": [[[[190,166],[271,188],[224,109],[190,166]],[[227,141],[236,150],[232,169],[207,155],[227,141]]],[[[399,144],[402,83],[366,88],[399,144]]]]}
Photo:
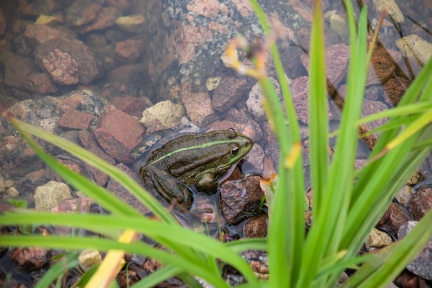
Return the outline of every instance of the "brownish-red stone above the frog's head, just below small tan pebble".
{"type": "Polygon", "coordinates": [[[248,90],[246,79],[229,77],[222,80],[221,84],[216,87],[211,106],[217,112],[228,111],[233,107],[235,102],[246,95],[248,90]]]}

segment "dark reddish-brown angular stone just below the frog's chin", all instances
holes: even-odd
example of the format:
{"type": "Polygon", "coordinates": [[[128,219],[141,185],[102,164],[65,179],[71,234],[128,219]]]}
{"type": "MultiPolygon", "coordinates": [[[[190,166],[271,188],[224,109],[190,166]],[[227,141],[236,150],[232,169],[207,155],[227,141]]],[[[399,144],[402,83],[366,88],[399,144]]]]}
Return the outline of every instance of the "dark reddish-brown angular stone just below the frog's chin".
{"type": "Polygon", "coordinates": [[[240,181],[228,181],[220,186],[220,206],[229,223],[238,222],[245,217],[244,212],[261,202],[264,192],[259,188],[259,180],[259,176],[250,176],[240,181]]]}

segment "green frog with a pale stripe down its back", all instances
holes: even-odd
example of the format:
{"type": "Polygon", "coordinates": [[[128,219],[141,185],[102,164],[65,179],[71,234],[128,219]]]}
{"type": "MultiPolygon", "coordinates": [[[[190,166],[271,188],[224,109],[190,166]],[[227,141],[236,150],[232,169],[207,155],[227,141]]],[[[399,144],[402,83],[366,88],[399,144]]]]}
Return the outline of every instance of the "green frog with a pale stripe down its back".
{"type": "Polygon", "coordinates": [[[189,209],[192,191],[217,192],[219,182],[252,148],[253,141],[233,128],[182,135],[150,152],[141,174],[149,191],[189,209]]]}

